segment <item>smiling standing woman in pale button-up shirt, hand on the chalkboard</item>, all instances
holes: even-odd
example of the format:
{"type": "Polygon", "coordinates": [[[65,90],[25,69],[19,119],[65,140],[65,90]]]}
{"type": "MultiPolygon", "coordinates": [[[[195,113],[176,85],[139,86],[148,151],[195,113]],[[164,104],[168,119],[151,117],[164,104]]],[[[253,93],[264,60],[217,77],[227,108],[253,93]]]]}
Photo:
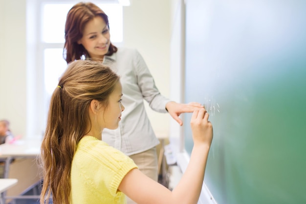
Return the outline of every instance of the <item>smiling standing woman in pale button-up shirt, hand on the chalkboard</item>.
{"type": "Polygon", "coordinates": [[[129,155],[144,174],[157,181],[156,145],[159,141],[147,116],[144,100],[154,111],[168,112],[180,125],[181,113],[193,112],[203,106],[197,102],[176,103],[162,96],[138,51],[117,48],[111,43],[108,16],[93,3],[80,2],[69,10],[65,39],[64,58],[67,63],[79,59],[116,63],[126,109],[119,128],[104,129],[103,141],[129,155]]]}

